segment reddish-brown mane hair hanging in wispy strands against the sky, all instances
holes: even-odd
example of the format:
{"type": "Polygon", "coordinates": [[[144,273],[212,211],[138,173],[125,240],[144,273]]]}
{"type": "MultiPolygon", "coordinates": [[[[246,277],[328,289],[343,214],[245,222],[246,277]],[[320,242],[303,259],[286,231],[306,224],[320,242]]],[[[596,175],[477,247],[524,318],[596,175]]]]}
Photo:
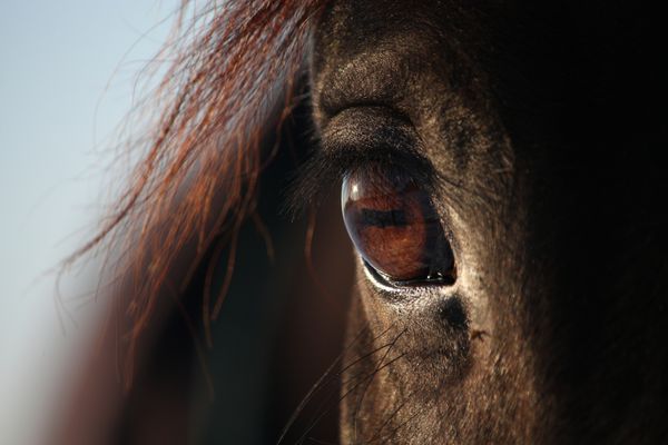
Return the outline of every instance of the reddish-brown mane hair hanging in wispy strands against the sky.
{"type": "MultiPolygon", "coordinates": [[[[291,108],[294,79],[323,3],[213,2],[197,16],[199,24],[185,29],[187,41],[168,48],[177,56],[158,88],[158,103],[168,106],[115,210],[67,261],[100,249],[120,258],[108,259],[106,269],[112,273],[104,278],[114,283],[109,324],[120,327],[105,329],[105,336],[114,332],[122,339],[126,385],[137,342],[160,298],[185,288],[215,240],[220,240],[217,255],[225,245],[234,255],[240,224],[254,212],[261,138],[268,122],[281,121],[291,108]]],[[[181,11],[189,6],[184,0],[181,11]]],[[[212,275],[213,268],[208,287],[212,275]]],[[[210,291],[203,297],[207,338],[226,287],[216,299],[210,291]]]]}

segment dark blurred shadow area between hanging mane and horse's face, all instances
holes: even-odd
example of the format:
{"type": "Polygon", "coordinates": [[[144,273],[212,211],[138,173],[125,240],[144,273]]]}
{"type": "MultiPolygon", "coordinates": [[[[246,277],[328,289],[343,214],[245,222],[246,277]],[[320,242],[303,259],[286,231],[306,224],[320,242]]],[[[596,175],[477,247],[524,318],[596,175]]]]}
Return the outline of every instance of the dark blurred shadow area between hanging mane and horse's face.
{"type": "MultiPolygon", "coordinates": [[[[213,347],[204,343],[202,318],[212,249],[180,297],[184,310],[169,316],[143,358],[117,443],[276,443],[313,385],[335,363],[353,285],[338,190],[314,214],[314,225],[308,217],[292,221],[282,211],[297,159],[310,149],[308,113],[304,106],[295,110],[282,131],[276,158],[262,176],[261,222],[249,220],[239,233],[229,291],[212,328],[213,347]],[[204,365],[196,345],[205,350],[204,365]]],[[[225,280],[228,250],[219,258],[213,300],[225,280]]],[[[282,443],[337,443],[336,372],[334,366],[282,443]]]]}

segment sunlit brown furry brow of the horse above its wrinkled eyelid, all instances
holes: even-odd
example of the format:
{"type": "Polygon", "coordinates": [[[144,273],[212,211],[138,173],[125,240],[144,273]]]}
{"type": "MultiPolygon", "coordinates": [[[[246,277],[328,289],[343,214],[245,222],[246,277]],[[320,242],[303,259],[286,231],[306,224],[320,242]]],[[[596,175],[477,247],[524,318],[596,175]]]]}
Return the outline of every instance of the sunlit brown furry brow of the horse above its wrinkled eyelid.
{"type": "MultiPolygon", "coordinates": [[[[421,4],[416,17],[405,2],[334,3],[316,32],[311,63],[314,120],[321,129],[344,108],[382,105],[409,117],[422,136],[474,132],[464,127],[498,135],[490,128],[497,122],[487,72],[471,57],[478,49],[453,37],[451,19],[425,12],[442,6],[421,4]],[[377,3],[390,7],[365,14],[369,4],[377,3]]],[[[442,154],[436,149],[433,155],[442,154]]]]}

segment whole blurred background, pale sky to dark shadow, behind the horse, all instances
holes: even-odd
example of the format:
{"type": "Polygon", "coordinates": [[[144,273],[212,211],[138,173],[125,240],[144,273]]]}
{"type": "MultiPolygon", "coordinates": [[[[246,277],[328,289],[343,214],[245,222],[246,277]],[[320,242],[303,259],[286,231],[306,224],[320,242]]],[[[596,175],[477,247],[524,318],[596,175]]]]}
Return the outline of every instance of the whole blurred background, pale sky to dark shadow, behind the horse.
{"type": "MultiPolygon", "coordinates": [[[[109,204],[117,126],[150,87],[137,90],[137,75],[164,44],[179,4],[3,2],[1,444],[276,443],[341,350],[353,261],[338,200],[324,205],[311,226],[279,215],[294,155],[308,149],[308,110],[299,107],[291,136],[284,135],[291,150],[262,179],[258,214],[271,241],[252,225],[242,231],[214,347],[202,348],[197,318],[209,255],[180,310],[161,309],[130,392],[106,368],[92,383],[81,379],[106,305],[77,298],[95,289],[95,265],[57,286],[58,266],[95,231],[109,204]],[[308,227],[315,230],[306,261],[308,227]],[[75,429],[62,433],[72,419],[75,429]]],[[[226,261],[215,267],[219,286],[226,261]]],[[[320,385],[285,443],[336,441],[337,385],[335,375],[320,385]]]]}

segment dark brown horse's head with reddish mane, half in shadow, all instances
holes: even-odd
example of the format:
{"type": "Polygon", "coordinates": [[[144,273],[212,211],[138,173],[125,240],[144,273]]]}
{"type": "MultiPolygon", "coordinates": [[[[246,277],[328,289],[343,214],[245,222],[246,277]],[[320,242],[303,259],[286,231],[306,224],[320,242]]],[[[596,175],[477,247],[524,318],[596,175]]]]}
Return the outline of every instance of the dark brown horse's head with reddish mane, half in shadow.
{"type": "Polygon", "coordinates": [[[261,147],[285,150],[267,135],[306,110],[302,139],[315,148],[288,207],[342,184],[354,251],[333,266],[354,269],[334,366],[341,443],[668,441],[658,11],[458,0],[212,10],[166,77],[171,102],[118,211],[81,250],[112,239],[129,253],[118,270],[131,291],[116,299],[127,375],[166,295],[178,300],[196,276],[212,343],[242,227],[266,231],[257,184],[276,152],[261,147]]]}

